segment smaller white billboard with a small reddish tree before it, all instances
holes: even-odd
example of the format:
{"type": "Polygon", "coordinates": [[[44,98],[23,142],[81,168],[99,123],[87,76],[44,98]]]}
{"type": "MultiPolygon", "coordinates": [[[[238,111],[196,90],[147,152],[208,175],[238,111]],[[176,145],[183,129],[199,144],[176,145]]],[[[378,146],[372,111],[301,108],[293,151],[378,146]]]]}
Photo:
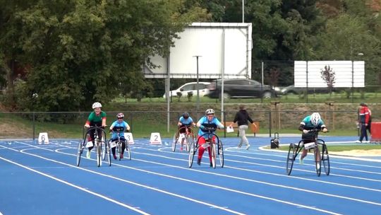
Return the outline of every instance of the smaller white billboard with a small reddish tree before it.
{"type": "Polygon", "coordinates": [[[295,87],[327,87],[322,71],[329,66],[334,72],[334,88],[361,88],[365,86],[365,62],[358,61],[296,61],[294,64],[295,87]]]}

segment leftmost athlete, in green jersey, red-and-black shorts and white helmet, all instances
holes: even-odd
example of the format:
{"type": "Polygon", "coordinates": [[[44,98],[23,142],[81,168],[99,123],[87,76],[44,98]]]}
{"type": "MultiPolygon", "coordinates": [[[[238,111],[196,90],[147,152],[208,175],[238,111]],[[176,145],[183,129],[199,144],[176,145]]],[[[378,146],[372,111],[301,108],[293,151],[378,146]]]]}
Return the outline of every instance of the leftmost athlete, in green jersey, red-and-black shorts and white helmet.
{"type": "MultiPolygon", "coordinates": [[[[106,127],[106,112],[101,110],[102,105],[101,103],[94,103],[92,104],[93,112],[90,113],[89,117],[87,117],[85,128],[89,129],[91,126],[97,126],[97,127],[106,127]]],[[[90,151],[92,148],[94,148],[94,132],[88,132],[86,134],[90,135],[90,139],[88,141],[92,141],[92,146],[89,147],[87,151],[87,158],[90,158],[90,151]]],[[[99,138],[102,139],[103,132],[98,129],[99,138]]]]}

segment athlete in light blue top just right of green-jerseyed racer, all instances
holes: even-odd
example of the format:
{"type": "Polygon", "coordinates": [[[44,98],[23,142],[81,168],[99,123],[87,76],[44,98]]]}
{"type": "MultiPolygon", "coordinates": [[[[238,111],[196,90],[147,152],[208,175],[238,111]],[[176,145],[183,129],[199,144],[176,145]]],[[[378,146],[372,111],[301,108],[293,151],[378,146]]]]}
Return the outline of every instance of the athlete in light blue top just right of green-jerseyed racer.
{"type": "MultiPolygon", "coordinates": [[[[119,131],[119,136],[122,143],[121,158],[123,158],[123,153],[124,153],[124,150],[126,149],[126,138],[124,138],[124,131],[126,132],[130,131],[130,125],[128,125],[128,123],[123,120],[124,118],[123,113],[120,112],[119,114],[117,114],[116,118],[117,120],[113,122],[110,126],[110,132],[112,132],[110,142],[118,141],[118,131],[119,131]]],[[[116,147],[111,148],[112,156],[114,156],[114,159],[116,159],[115,150],[116,150],[116,147]]]]}

